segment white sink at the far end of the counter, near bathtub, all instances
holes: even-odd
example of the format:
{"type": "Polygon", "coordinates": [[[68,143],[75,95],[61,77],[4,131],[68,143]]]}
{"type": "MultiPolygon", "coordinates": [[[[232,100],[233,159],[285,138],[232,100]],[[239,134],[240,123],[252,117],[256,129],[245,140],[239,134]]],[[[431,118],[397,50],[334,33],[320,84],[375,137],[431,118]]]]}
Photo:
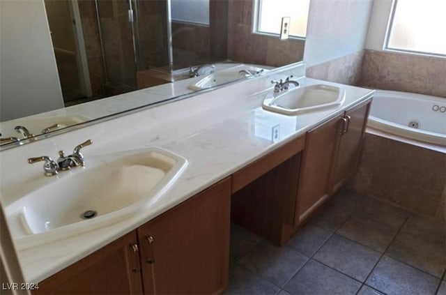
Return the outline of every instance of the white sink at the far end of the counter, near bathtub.
{"type": "Polygon", "coordinates": [[[346,91],[337,86],[316,84],[301,86],[285,93],[275,93],[275,97],[263,100],[262,107],[279,114],[295,115],[340,107],[344,103],[345,96],[346,91]]]}

